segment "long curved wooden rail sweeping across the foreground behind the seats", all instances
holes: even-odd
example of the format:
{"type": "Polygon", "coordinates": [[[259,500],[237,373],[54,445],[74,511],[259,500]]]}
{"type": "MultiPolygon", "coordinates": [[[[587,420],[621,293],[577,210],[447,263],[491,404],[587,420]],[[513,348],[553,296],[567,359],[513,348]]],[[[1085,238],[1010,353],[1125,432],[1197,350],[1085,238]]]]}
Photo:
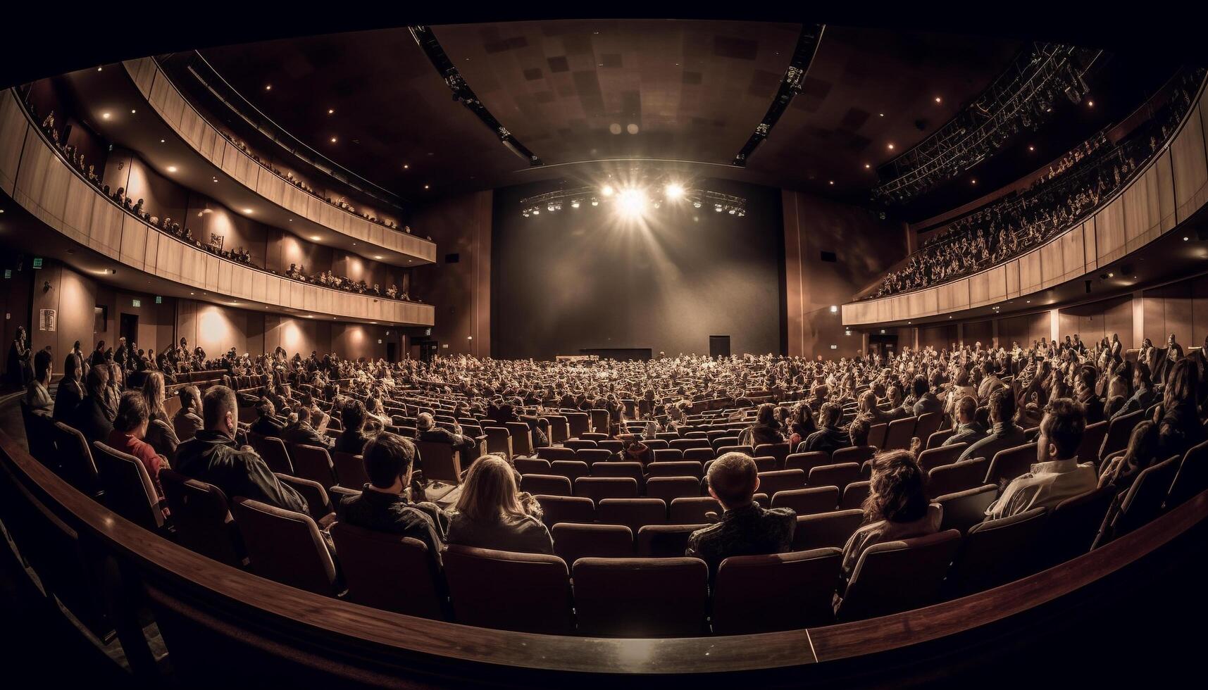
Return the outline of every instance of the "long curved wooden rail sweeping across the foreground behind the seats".
{"type": "MultiPolygon", "coordinates": [[[[8,413],[12,413],[11,406],[8,413]]],[[[902,650],[1053,602],[1181,535],[1208,517],[1208,492],[1107,546],[1029,578],[964,597],[842,625],[777,633],[678,639],[603,639],[484,630],[374,610],[303,592],[210,561],[110,512],[0,434],[0,481],[28,487],[64,523],[137,572],[152,602],[173,614],[225,621],[230,611],[280,630],[283,645],[323,640],[343,660],[387,659],[394,668],[457,660],[465,668],[511,667],[586,674],[697,674],[811,666],[902,650]],[[186,598],[164,592],[187,592],[186,598]],[[181,603],[185,601],[191,603],[181,603]],[[269,622],[265,622],[269,621],[269,622]],[[353,649],[349,654],[347,650],[353,649]],[[426,660],[426,661],[425,661],[426,660]]],[[[231,624],[222,624],[230,626],[231,624]]],[[[139,633],[141,634],[141,633],[139,633]]],[[[249,637],[255,637],[250,634],[249,637]]],[[[170,637],[169,653],[172,651],[170,637]]],[[[284,654],[280,649],[275,650],[284,654]]],[[[308,656],[301,653],[302,657],[308,656]]],[[[306,663],[319,663],[308,660],[306,663]]],[[[331,669],[333,662],[325,668],[331,669]]],[[[460,668],[460,667],[459,667],[460,668]]],[[[366,669],[366,675],[374,671],[366,669]]],[[[447,677],[446,677],[447,678],[447,677]]]]}

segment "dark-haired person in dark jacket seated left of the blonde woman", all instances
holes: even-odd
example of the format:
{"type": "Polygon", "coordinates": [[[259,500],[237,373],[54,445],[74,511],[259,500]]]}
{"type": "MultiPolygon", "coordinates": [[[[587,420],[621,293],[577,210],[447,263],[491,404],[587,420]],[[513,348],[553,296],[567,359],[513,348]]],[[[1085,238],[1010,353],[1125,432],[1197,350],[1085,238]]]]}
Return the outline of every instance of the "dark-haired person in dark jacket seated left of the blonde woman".
{"type": "Polygon", "coordinates": [[[339,501],[337,518],[365,529],[418,539],[439,563],[448,516],[434,503],[413,503],[405,495],[412,483],[414,443],[397,434],[384,433],[370,439],[362,454],[370,483],[360,494],[339,501]]]}

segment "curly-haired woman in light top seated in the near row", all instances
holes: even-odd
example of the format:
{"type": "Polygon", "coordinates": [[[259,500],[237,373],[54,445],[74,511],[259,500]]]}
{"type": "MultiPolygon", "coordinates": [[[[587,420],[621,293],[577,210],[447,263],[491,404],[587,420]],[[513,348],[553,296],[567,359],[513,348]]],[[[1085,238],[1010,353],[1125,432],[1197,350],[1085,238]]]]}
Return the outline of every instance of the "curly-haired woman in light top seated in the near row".
{"type": "Polygon", "coordinates": [[[927,498],[925,475],[910,451],[878,453],[872,459],[864,527],[843,546],[843,579],[850,579],[860,556],[872,545],[925,537],[940,530],[943,509],[927,498]]]}

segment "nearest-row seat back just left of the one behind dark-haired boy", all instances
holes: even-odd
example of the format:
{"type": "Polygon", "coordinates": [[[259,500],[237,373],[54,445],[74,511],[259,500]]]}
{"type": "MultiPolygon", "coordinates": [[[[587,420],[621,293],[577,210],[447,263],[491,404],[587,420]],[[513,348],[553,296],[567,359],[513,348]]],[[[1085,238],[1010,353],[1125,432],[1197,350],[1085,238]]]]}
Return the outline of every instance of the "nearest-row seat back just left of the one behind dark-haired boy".
{"type": "Polygon", "coordinates": [[[242,497],[233,512],[252,573],[316,595],[339,592],[336,564],[309,515],[242,497]]]}

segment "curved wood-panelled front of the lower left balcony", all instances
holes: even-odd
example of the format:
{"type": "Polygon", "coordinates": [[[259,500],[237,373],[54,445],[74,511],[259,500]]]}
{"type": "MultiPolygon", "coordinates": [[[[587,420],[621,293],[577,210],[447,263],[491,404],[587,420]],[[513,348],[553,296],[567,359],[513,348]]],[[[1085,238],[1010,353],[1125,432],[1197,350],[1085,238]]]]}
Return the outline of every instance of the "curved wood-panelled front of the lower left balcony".
{"type": "Polygon", "coordinates": [[[124,266],[252,308],[309,317],[432,325],[431,305],[291,280],[210,254],[127,213],[68,166],[12,89],[0,94],[0,186],[64,237],[124,266]]]}

